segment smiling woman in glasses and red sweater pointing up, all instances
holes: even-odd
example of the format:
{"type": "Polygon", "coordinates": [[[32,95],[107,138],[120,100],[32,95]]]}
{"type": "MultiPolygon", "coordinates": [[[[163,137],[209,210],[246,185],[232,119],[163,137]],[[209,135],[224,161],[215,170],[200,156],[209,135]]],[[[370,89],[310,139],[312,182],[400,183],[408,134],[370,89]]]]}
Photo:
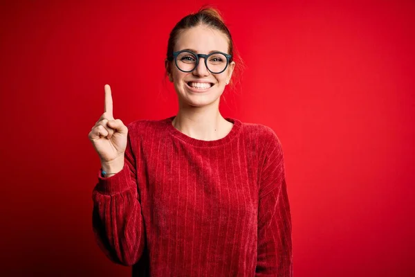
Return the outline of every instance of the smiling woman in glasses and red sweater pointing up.
{"type": "Polygon", "coordinates": [[[133,276],[292,276],[281,143],[269,127],[223,118],[234,71],[219,13],[199,10],[170,33],[165,67],[176,116],[127,127],[105,112],[89,134],[102,171],[93,228],[133,276]]]}

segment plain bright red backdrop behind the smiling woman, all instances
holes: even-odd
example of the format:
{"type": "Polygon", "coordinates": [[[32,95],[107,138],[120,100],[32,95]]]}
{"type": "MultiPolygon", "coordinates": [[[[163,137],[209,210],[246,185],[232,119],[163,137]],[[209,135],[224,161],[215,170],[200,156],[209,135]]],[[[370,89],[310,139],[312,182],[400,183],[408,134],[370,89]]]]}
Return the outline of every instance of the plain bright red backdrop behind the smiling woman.
{"type": "MultiPolygon", "coordinates": [[[[129,276],[98,249],[88,139],[176,113],[169,31],[205,1],[1,1],[1,276],[129,276]]],[[[221,110],[282,141],[295,276],[414,276],[414,1],[214,1],[246,63],[221,110]]]]}

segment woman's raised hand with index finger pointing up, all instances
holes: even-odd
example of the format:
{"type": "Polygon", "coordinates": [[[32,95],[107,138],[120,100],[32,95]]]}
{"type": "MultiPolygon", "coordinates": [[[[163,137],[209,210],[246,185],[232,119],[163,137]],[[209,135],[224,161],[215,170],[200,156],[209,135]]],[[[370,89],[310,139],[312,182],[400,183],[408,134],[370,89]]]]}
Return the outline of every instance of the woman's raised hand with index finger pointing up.
{"type": "Polygon", "coordinates": [[[128,129],[120,119],[113,118],[113,101],[108,84],[104,90],[104,114],[92,127],[89,139],[100,156],[102,168],[110,172],[120,171],[124,165],[128,129]]]}

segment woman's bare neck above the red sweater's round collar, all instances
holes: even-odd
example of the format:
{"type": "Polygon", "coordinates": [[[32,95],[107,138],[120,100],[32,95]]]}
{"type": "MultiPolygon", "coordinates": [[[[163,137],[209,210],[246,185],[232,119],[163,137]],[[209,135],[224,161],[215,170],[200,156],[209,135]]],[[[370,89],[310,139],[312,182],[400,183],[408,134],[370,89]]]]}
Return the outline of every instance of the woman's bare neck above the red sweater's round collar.
{"type": "Polygon", "coordinates": [[[181,106],[172,124],[183,134],[202,141],[222,139],[233,125],[223,118],[219,107],[191,106],[181,106]]]}

